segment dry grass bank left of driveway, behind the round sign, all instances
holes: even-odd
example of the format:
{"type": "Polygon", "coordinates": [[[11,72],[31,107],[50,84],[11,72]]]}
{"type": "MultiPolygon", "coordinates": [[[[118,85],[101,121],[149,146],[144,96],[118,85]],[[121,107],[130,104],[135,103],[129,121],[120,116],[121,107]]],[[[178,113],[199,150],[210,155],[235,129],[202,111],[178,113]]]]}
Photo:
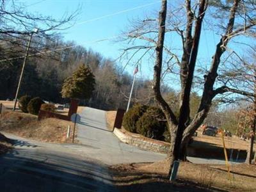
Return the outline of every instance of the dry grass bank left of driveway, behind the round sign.
{"type": "Polygon", "coordinates": [[[4,113],[0,120],[0,131],[44,142],[71,142],[71,137],[66,136],[67,127],[72,123],[65,120],[46,118],[38,122],[35,115],[13,111],[4,113]]]}

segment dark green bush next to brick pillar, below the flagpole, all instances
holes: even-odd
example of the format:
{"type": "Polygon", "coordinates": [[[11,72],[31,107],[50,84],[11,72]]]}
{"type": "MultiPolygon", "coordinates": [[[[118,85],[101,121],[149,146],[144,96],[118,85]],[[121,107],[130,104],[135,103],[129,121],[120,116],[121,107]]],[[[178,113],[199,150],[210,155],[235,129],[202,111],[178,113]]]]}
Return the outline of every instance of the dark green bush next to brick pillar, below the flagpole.
{"type": "Polygon", "coordinates": [[[136,104],[127,113],[125,113],[123,118],[123,126],[127,131],[136,132],[136,122],[139,118],[147,111],[148,106],[136,104]]]}

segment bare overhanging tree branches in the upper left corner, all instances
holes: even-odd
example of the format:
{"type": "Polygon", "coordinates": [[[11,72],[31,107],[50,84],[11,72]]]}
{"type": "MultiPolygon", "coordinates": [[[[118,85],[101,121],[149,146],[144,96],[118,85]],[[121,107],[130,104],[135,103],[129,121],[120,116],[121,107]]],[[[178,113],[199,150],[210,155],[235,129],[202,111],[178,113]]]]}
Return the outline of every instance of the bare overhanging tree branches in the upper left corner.
{"type": "MultiPolygon", "coordinates": [[[[26,6],[13,0],[0,1],[0,43],[1,43],[1,60],[8,60],[4,55],[10,55],[17,52],[23,52],[26,49],[28,36],[34,33],[34,29],[38,29],[38,32],[33,36],[31,42],[31,54],[40,56],[42,53],[51,50],[51,47],[47,47],[49,42],[56,42],[52,40],[56,38],[58,31],[70,28],[74,23],[74,19],[77,16],[78,11],[73,13],[64,13],[61,19],[54,19],[49,16],[35,15],[27,12],[26,6]]],[[[50,54],[52,56],[52,54],[50,54]]],[[[19,58],[19,57],[17,57],[19,58]]]]}

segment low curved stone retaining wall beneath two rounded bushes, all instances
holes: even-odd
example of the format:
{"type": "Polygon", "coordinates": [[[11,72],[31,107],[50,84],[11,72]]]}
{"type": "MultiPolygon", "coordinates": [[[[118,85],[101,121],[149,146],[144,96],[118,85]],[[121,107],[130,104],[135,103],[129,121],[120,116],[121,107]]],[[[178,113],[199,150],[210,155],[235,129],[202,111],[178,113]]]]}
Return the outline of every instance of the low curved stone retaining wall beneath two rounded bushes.
{"type": "Polygon", "coordinates": [[[113,133],[120,141],[127,143],[129,145],[134,145],[136,147],[143,148],[145,150],[151,150],[154,152],[161,152],[167,154],[168,150],[170,149],[170,143],[145,138],[140,134],[127,132],[124,129],[115,128],[113,133]]]}

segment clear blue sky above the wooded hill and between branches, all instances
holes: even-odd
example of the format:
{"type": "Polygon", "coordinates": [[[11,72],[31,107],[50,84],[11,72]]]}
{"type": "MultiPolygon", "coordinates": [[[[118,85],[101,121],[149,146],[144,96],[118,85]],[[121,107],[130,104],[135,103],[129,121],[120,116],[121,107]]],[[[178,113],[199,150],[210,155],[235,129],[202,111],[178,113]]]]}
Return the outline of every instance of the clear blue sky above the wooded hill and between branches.
{"type": "MultiPolygon", "coordinates": [[[[79,8],[74,26],[62,31],[65,40],[74,41],[87,49],[92,48],[93,51],[114,60],[120,56],[120,48],[124,44],[114,43],[113,40],[97,43],[95,41],[120,35],[121,31],[127,29],[129,20],[143,18],[146,14],[156,13],[161,8],[161,1],[158,0],[15,0],[15,2],[26,4],[28,12],[49,15],[56,19],[79,8]]],[[[201,65],[209,65],[219,38],[212,31],[202,30],[198,55],[198,62],[201,65]]],[[[180,41],[173,36],[170,44],[177,43],[180,41]]],[[[124,63],[120,64],[124,65],[124,63]]],[[[152,63],[143,61],[140,69],[143,71],[140,70],[140,77],[152,79],[152,63]]],[[[133,67],[128,66],[126,70],[132,74],[133,67]]]]}

